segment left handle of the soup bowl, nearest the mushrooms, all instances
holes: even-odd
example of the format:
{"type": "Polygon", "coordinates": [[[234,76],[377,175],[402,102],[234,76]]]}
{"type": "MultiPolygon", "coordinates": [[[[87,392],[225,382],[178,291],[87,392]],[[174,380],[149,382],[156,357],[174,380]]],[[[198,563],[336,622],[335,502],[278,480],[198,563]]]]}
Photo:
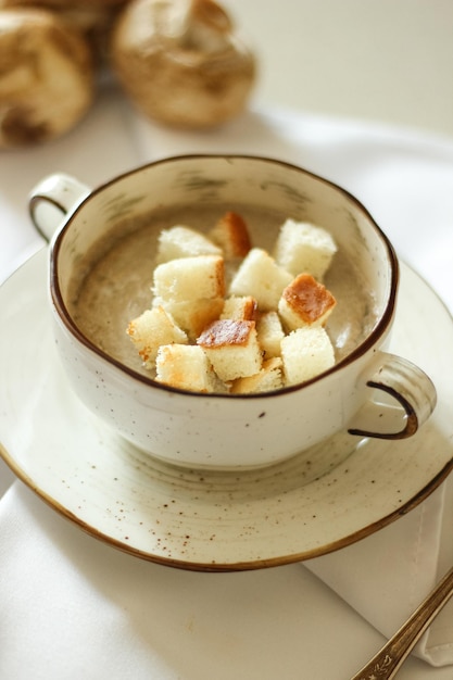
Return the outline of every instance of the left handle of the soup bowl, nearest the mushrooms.
{"type": "Polygon", "coordinates": [[[67,216],[75,211],[91,189],[71,175],[49,175],[32,189],[28,210],[36,229],[47,241],[63,227],[67,216]]]}

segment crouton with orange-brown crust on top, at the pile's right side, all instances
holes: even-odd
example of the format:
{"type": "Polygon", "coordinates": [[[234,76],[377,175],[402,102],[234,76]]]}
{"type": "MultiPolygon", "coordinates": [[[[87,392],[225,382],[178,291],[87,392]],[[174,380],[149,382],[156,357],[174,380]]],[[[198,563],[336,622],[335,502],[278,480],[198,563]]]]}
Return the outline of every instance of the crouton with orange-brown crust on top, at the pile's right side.
{"type": "Polygon", "coordinates": [[[281,293],[278,313],[287,329],[323,326],[330,316],[336,299],[311,274],[300,274],[281,293]]]}

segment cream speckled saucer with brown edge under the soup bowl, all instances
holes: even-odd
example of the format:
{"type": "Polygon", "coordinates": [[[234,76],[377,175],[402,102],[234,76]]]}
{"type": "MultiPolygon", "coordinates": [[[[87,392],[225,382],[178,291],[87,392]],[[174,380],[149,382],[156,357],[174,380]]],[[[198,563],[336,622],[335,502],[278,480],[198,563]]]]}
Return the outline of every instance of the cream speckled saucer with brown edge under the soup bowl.
{"type": "Polygon", "coordinates": [[[0,453],[54,509],[131,555],[202,570],[306,559],[408,512],[453,466],[453,324],[405,265],[391,351],[433,379],[428,424],[400,442],[341,433],[312,456],[240,474],[154,461],[95,419],[55,356],[46,279],[43,250],[0,289],[0,453]]]}

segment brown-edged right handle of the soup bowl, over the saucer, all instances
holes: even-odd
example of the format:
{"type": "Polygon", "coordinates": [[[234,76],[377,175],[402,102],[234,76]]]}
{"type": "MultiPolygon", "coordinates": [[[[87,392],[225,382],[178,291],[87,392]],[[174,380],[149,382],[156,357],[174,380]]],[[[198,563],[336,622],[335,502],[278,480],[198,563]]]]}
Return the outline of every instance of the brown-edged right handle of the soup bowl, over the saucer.
{"type": "Polygon", "coordinates": [[[352,427],[348,431],[360,437],[406,439],[415,435],[433,412],[437,402],[436,388],[426,373],[412,362],[388,352],[381,352],[379,358],[380,365],[367,380],[367,386],[380,390],[391,399],[380,402],[375,393],[374,399],[355,416],[363,421],[362,427],[352,427]],[[382,431],[376,428],[377,423],[382,431]],[[397,429],[386,431],[391,425],[397,425],[397,429]]]}

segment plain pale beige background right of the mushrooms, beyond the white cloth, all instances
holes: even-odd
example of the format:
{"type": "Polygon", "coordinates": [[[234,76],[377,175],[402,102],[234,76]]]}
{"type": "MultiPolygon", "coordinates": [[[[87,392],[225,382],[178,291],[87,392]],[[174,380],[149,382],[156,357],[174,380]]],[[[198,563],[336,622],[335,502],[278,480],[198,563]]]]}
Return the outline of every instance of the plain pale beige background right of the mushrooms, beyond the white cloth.
{"type": "Polygon", "coordinates": [[[260,102],[453,136],[451,0],[227,0],[260,102]]]}

